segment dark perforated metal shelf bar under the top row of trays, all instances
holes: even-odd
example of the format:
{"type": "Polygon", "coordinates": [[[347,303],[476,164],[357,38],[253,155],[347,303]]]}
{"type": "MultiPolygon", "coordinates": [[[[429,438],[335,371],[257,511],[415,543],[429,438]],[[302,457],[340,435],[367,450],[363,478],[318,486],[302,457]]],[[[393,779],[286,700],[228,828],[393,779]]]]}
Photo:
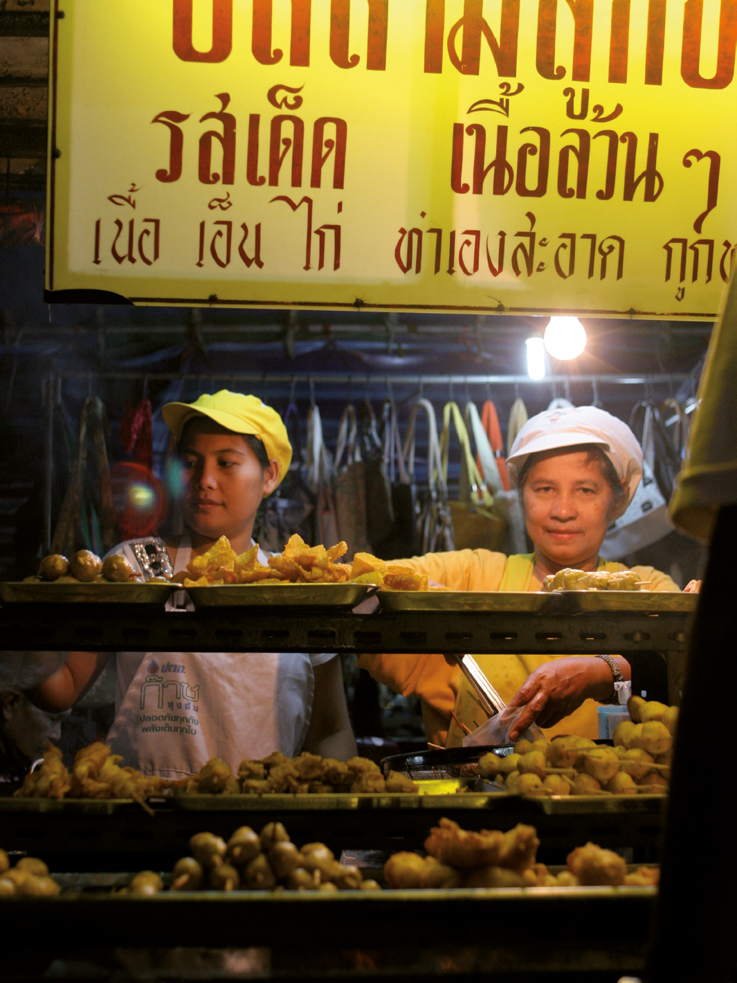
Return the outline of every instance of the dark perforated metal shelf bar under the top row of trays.
{"type": "Polygon", "coordinates": [[[325,611],[281,607],[165,611],[142,605],[0,607],[3,648],[90,652],[685,652],[693,611],[325,611]]]}

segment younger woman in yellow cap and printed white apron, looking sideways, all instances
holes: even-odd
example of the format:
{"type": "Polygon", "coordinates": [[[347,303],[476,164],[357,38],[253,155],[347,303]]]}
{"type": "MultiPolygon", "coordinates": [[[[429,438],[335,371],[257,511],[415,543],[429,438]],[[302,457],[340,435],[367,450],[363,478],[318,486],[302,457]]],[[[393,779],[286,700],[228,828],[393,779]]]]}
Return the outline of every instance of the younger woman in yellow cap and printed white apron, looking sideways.
{"type": "MultiPolygon", "coordinates": [[[[241,553],[252,544],[262,499],[287,473],[292,447],[279,415],[255,396],[202,395],[168,403],[164,421],[183,469],[185,532],[164,543],[129,540],[112,550],[148,579],[176,574],[221,536],[241,553]]],[[[264,565],[267,556],[259,550],[264,565]]],[[[170,606],[187,603],[177,592],[170,606]]],[[[66,665],[31,694],[46,710],[71,707],[109,653],[70,652],[66,665]]],[[[108,743],[144,774],[178,779],[212,757],[236,772],[243,758],[301,750],[349,758],[356,742],[340,662],[305,653],[116,654],[115,720],[108,743]]]]}

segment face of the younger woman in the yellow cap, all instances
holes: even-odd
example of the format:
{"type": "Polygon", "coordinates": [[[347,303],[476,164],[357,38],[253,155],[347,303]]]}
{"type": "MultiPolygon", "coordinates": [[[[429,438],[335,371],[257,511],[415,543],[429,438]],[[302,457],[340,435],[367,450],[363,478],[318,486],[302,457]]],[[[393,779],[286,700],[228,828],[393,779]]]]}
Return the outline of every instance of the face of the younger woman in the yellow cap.
{"type": "Polygon", "coordinates": [[[193,533],[213,541],[227,536],[234,549],[249,542],[261,499],[278,484],[277,463],[264,471],[241,434],[206,417],[187,425],[179,456],[182,512],[193,533]]]}

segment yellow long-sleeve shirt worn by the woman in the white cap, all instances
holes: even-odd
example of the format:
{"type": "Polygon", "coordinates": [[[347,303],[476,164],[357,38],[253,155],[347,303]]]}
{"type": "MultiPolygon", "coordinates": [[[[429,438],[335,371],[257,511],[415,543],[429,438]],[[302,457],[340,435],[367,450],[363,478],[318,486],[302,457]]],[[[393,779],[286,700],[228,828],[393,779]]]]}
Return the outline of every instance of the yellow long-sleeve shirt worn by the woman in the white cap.
{"type": "MultiPolygon", "coordinates": [[[[403,560],[426,573],[451,591],[539,591],[534,576],[535,554],[505,556],[489,549],[458,549],[452,552],[426,553],[403,560]]],[[[599,570],[626,570],[622,563],[599,561],[599,570]]],[[[678,591],[678,586],[664,573],[650,566],[632,567],[651,591],[678,591]]],[[[514,694],[539,665],[564,656],[485,655],[475,657],[499,696],[509,703],[514,694]]],[[[448,665],[441,655],[361,655],[359,666],[368,669],[374,679],[385,683],[403,696],[419,696],[427,740],[445,747],[458,747],[463,740],[461,728],[451,718],[456,716],[474,729],[486,720],[486,713],[476,693],[457,665],[448,665]]],[[[585,700],[564,721],[544,729],[555,733],[577,733],[595,737],[598,724],[595,700],[585,700]]]]}

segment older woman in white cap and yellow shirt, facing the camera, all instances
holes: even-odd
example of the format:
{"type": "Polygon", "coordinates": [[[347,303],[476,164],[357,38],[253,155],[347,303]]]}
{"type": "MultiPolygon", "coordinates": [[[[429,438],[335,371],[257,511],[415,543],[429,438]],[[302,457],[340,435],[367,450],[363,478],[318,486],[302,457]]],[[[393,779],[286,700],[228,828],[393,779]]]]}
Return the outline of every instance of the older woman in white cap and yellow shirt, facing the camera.
{"type": "MultiPolygon", "coordinates": [[[[622,515],[643,474],[635,435],[616,417],[592,406],[556,409],[529,420],[507,465],[525,512],[535,552],[514,556],[460,549],[414,557],[412,566],[455,591],[539,591],[548,574],[624,570],[599,559],[606,530],[622,515]]],[[[650,590],[677,591],[652,567],[634,567],[650,590]]],[[[625,659],[595,656],[477,656],[492,685],[510,706],[526,709],[510,731],[516,739],[536,721],[547,735],[597,735],[597,703],[614,695],[614,681],[630,678],[625,659]]],[[[451,712],[474,729],[486,718],[457,665],[442,656],[362,655],[359,665],[405,696],[418,695],[427,739],[454,747],[463,732],[451,712]]]]}

